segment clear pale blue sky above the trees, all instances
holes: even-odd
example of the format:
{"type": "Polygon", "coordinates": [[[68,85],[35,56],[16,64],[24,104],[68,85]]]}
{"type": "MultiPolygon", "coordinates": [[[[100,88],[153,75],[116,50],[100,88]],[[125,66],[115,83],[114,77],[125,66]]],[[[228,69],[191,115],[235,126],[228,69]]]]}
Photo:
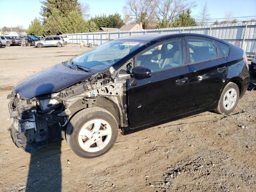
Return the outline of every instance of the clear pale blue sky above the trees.
{"type": "MultiPolygon", "coordinates": [[[[80,0],[90,4],[90,15],[120,13],[125,0],[80,0]]],[[[256,0],[196,0],[197,6],[192,9],[196,16],[207,2],[211,18],[224,18],[232,12],[232,17],[256,16],[256,0]]],[[[31,20],[40,18],[40,0],[0,0],[0,27],[22,25],[28,28],[31,20]]],[[[256,18],[256,17],[255,17],[256,18]]]]}

